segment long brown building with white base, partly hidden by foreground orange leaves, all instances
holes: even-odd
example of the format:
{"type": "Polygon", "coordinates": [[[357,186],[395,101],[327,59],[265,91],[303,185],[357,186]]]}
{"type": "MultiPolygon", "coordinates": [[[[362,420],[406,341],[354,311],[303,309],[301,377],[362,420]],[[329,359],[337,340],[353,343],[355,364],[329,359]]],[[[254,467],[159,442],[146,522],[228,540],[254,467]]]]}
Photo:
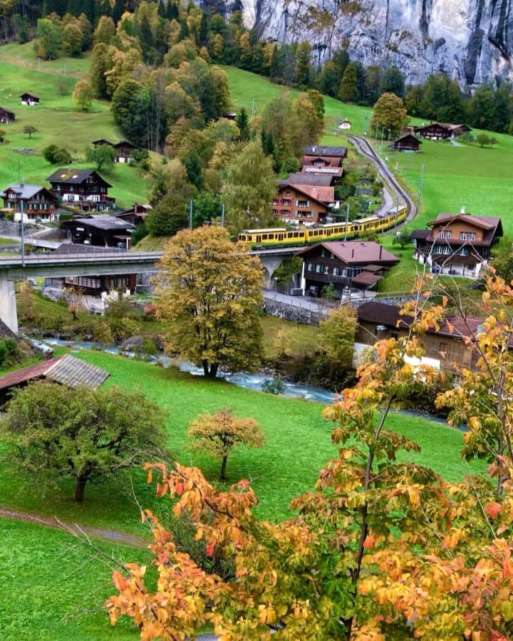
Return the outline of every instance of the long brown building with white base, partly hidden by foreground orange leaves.
{"type": "MultiPolygon", "coordinates": [[[[385,303],[369,302],[358,306],[358,328],[356,330],[354,356],[358,365],[358,356],[378,340],[401,338],[409,332],[412,316],[402,316],[400,306],[385,303]]],[[[429,328],[418,336],[425,348],[422,360],[412,360],[413,365],[431,365],[437,370],[452,374],[458,368],[477,370],[479,355],[472,348],[472,343],[465,340],[482,331],[484,319],[476,316],[447,314],[440,320],[440,329],[429,328]],[[450,323],[450,325],[447,323],[450,323]]]]}

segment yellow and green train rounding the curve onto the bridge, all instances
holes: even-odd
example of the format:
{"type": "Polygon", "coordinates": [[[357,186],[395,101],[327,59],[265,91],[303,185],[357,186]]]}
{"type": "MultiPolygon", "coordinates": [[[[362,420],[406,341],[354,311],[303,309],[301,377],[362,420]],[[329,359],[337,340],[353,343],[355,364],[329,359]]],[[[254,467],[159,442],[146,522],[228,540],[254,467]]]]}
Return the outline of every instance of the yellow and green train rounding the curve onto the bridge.
{"type": "Polygon", "coordinates": [[[345,222],[328,223],[325,225],[314,225],[310,227],[298,227],[296,229],[285,229],[285,227],[274,227],[271,229],[244,229],[239,234],[239,241],[259,247],[279,247],[283,245],[303,245],[318,243],[326,240],[351,240],[361,238],[369,231],[386,231],[403,222],[406,218],[406,207],[392,209],[383,216],[369,216],[345,222]]]}

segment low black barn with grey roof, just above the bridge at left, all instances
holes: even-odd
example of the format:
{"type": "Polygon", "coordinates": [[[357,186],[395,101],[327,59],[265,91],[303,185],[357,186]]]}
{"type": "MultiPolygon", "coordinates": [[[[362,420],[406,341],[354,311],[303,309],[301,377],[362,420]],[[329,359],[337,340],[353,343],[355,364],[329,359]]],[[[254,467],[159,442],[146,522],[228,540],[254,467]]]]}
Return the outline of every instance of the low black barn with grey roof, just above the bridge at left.
{"type": "Polygon", "coordinates": [[[75,244],[130,249],[130,238],[135,227],[114,216],[97,214],[65,220],[61,223],[61,229],[75,244]]]}

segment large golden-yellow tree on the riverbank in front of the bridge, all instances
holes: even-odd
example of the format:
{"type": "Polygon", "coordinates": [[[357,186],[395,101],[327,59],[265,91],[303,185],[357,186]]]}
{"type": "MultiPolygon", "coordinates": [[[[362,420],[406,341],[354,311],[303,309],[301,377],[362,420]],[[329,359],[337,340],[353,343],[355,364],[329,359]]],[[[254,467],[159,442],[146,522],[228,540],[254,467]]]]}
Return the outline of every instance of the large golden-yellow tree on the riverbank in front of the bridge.
{"type": "Polygon", "coordinates": [[[157,316],[169,321],[167,350],[206,376],[219,367],[253,369],[261,357],[264,277],[259,259],[225,229],[183,230],[166,245],[158,276],[157,316]]]}

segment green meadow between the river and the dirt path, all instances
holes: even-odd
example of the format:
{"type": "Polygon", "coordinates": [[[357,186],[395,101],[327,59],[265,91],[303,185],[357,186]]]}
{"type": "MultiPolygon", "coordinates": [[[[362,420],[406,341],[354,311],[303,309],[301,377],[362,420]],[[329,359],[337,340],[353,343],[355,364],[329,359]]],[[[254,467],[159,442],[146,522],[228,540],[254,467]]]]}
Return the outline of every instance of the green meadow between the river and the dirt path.
{"type": "MultiPolygon", "coordinates": [[[[198,465],[207,479],[217,482],[219,462],[187,449],[187,424],[201,412],[232,407],[237,415],[254,417],[266,434],[262,449],[234,452],[228,459],[229,484],[242,478],[252,479],[260,504],[261,518],[279,520],[291,515],[289,501],[310,489],[318,470],[337,448],[331,444],[332,424],[321,417],[322,405],[252,392],[219,380],[205,380],[103,352],[81,352],[79,358],[110,372],[106,385],[121,385],[142,390],[147,397],[169,412],[167,446],[183,464],[198,465]]],[[[482,471],[482,464],[460,460],[462,434],[443,424],[420,417],[394,414],[389,427],[408,434],[423,451],[405,459],[427,464],[447,479],[462,479],[470,471],[482,471]]],[[[86,525],[110,526],[142,533],[139,512],[132,493],[140,504],[155,508],[153,488],[145,485],[141,472],[133,474],[133,488],[127,477],[86,489],[86,501],[73,503],[73,484],[33,489],[33,480],[15,471],[8,462],[0,467],[0,505],[24,511],[59,516],[86,525]]],[[[169,501],[160,501],[157,511],[167,511],[169,501]]]]}

